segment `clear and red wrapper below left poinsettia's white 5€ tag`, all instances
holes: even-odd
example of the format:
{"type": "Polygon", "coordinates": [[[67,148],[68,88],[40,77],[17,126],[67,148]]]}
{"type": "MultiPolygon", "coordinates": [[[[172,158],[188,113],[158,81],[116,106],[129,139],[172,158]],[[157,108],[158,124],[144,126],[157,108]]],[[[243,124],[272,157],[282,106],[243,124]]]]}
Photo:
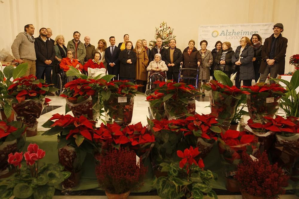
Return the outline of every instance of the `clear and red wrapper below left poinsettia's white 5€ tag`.
{"type": "Polygon", "coordinates": [[[127,95],[126,102],[118,102],[118,96],[111,94],[108,100],[103,101],[106,113],[105,120],[119,125],[128,125],[132,121],[134,95],[127,95]]]}

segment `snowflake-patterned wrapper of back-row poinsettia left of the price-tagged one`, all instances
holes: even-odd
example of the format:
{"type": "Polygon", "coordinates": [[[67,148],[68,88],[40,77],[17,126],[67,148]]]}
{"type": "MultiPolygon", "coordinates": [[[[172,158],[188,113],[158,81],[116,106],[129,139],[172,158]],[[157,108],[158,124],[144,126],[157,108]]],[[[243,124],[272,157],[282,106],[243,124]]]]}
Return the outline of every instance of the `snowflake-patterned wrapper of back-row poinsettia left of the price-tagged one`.
{"type": "Polygon", "coordinates": [[[65,100],[66,104],[75,117],[80,115],[87,115],[87,118],[89,118],[90,120],[96,120],[100,117],[101,105],[97,92],[93,96],[89,96],[88,99],[80,103],[72,103],[67,98],[65,100]]]}

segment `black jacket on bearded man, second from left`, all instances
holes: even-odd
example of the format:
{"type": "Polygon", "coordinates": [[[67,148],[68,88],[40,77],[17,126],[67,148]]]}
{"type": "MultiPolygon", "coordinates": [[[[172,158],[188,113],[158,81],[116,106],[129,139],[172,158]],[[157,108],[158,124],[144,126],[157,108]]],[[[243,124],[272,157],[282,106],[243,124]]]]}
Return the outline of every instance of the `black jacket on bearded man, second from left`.
{"type": "Polygon", "coordinates": [[[53,43],[48,39],[45,41],[42,38],[36,37],[34,41],[36,54],[36,66],[54,66],[55,50],[53,43]],[[46,60],[51,60],[50,65],[45,64],[46,60]]]}

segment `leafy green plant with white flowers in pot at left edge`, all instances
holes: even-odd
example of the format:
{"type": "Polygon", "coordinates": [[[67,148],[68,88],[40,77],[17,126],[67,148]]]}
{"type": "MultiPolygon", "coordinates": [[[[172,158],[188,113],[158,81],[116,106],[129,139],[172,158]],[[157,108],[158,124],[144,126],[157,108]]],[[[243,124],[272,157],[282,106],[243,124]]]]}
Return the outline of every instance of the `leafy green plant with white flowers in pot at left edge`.
{"type": "Polygon", "coordinates": [[[4,95],[7,94],[7,88],[10,87],[13,82],[11,78],[16,79],[25,75],[28,64],[19,64],[17,67],[7,66],[4,69],[1,65],[0,71],[0,112],[2,120],[7,119],[7,121],[14,120],[14,112],[12,112],[11,105],[6,101],[4,95]],[[3,71],[3,72],[2,72],[3,71]]]}

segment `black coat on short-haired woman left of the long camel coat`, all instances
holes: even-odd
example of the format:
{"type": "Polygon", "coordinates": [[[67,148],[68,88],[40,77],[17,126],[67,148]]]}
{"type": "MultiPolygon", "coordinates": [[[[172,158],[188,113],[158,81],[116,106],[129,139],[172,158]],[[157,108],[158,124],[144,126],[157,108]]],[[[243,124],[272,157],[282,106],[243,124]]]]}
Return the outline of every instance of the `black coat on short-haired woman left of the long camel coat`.
{"type": "Polygon", "coordinates": [[[136,53],[133,50],[131,50],[130,54],[128,54],[127,49],[120,51],[119,61],[120,61],[119,77],[135,78],[136,77],[135,62],[137,61],[136,53]],[[131,59],[132,64],[127,63],[128,59],[131,59]]]}

